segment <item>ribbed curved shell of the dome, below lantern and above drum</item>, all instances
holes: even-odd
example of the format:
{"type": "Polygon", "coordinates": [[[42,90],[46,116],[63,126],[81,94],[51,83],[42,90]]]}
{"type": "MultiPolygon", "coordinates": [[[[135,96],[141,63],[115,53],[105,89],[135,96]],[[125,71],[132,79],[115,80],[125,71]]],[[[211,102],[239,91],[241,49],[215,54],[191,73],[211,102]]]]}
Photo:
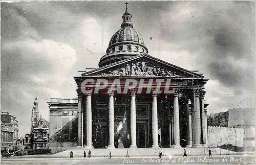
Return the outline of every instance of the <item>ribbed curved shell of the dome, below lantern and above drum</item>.
{"type": "Polygon", "coordinates": [[[134,41],[146,46],[141,34],[132,27],[123,27],[118,30],[110,39],[109,46],[123,41],[134,41]]]}

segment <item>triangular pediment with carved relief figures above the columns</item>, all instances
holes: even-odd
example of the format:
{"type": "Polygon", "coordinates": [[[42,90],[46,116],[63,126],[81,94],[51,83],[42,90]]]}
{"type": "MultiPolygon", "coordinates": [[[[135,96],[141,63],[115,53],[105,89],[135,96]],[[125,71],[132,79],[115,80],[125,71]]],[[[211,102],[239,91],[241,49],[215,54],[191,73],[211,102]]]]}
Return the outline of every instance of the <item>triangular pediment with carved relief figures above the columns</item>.
{"type": "Polygon", "coordinates": [[[147,54],[91,70],[82,76],[204,77],[147,54]]]}

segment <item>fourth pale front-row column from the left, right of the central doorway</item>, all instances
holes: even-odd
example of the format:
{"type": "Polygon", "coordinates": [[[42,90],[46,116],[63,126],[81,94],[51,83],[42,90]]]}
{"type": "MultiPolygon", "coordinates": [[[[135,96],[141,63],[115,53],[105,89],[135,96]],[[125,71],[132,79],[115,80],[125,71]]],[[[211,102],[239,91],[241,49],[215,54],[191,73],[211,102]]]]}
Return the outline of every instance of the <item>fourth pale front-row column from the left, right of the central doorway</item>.
{"type": "Polygon", "coordinates": [[[153,146],[152,148],[159,148],[158,146],[158,119],[157,119],[157,94],[152,95],[152,134],[153,134],[153,146]]]}

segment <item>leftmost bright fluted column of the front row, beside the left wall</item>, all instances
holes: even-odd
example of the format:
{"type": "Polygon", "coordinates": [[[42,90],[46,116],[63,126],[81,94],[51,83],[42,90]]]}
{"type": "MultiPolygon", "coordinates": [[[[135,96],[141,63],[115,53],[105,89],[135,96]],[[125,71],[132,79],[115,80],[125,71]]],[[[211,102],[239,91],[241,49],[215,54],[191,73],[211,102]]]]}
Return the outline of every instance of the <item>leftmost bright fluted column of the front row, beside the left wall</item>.
{"type": "Polygon", "coordinates": [[[92,148],[92,94],[86,93],[86,148],[92,148]]]}

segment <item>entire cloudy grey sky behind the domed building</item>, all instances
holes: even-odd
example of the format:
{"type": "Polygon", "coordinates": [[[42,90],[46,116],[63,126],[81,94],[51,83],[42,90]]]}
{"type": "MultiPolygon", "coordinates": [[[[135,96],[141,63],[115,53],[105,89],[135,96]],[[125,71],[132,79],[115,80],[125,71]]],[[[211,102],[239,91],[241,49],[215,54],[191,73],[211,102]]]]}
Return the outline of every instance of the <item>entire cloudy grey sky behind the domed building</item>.
{"type": "MultiPolygon", "coordinates": [[[[50,98],[77,97],[73,77],[98,68],[124,11],[120,1],[1,3],[1,110],[20,137],[35,97],[48,121],[50,98]]],[[[209,79],[208,113],[255,107],[255,2],[134,1],[128,11],[149,55],[209,79]]]]}

